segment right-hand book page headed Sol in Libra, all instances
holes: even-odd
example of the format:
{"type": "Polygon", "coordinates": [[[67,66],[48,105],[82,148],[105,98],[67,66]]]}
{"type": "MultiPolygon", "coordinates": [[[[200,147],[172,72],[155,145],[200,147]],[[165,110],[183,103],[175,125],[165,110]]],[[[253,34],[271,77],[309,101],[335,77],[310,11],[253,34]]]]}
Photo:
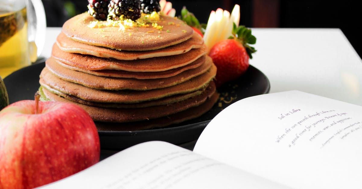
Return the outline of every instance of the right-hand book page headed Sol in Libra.
{"type": "Polygon", "coordinates": [[[299,91],[237,101],[194,152],[292,188],[362,188],[362,106],[299,91]]]}

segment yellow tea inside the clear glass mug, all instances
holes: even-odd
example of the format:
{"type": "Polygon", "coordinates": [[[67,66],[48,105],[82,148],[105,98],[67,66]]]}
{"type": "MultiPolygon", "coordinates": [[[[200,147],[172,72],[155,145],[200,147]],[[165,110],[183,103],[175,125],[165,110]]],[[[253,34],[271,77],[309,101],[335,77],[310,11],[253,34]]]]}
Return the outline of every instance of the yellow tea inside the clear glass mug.
{"type": "Polygon", "coordinates": [[[0,76],[30,65],[26,8],[0,12],[0,76]]]}

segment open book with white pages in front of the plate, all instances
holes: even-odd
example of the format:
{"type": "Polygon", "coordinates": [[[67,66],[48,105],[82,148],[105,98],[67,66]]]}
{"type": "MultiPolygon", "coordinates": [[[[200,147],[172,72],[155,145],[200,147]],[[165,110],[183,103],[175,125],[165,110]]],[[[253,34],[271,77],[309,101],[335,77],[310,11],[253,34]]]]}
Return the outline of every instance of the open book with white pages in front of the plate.
{"type": "Polygon", "coordinates": [[[45,188],[362,188],[361,178],[362,106],[289,91],[228,106],[193,152],[146,142],[45,188]]]}

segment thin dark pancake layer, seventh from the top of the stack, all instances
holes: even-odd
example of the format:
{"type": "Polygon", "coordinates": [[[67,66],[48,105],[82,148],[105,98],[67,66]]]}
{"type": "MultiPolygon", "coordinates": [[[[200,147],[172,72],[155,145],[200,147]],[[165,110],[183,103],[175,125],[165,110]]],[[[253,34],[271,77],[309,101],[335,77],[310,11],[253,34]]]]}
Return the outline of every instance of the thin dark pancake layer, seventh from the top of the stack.
{"type": "MultiPolygon", "coordinates": [[[[209,87],[213,87],[214,85],[215,85],[214,82],[211,81],[209,84],[209,87]]],[[[190,93],[178,94],[178,95],[168,96],[168,97],[164,97],[164,98],[160,98],[160,99],[156,99],[156,100],[149,100],[149,101],[144,101],[144,102],[139,102],[139,103],[129,103],[129,104],[90,102],[90,101],[86,101],[86,100],[77,98],[72,95],[67,95],[67,94],[62,93],[53,88],[48,88],[46,90],[50,91],[56,95],[59,95],[61,97],[64,97],[70,101],[77,102],[77,103],[84,104],[84,105],[89,105],[89,106],[96,106],[96,107],[103,107],[103,108],[145,108],[145,107],[150,107],[150,106],[167,105],[167,104],[172,104],[172,103],[175,103],[178,101],[182,101],[187,98],[191,98],[191,97],[200,95],[205,90],[205,88],[202,88],[200,90],[193,91],[190,93]]],[[[39,91],[41,91],[41,89],[39,89],[39,91]]]]}

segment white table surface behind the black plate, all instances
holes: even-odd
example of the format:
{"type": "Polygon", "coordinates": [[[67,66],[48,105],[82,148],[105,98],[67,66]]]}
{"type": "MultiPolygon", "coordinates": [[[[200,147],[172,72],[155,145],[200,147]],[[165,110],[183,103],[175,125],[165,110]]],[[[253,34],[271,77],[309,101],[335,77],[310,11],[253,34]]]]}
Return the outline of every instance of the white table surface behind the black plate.
{"type": "MultiPolygon", "coordinates": [[[[47,28],[49,57],[61,28],[47,28]]],[[[253,28],[250,64],[270,81],[270,93],[298,90],[362,105],[362,60],[340,29],[253,28]]]]}

